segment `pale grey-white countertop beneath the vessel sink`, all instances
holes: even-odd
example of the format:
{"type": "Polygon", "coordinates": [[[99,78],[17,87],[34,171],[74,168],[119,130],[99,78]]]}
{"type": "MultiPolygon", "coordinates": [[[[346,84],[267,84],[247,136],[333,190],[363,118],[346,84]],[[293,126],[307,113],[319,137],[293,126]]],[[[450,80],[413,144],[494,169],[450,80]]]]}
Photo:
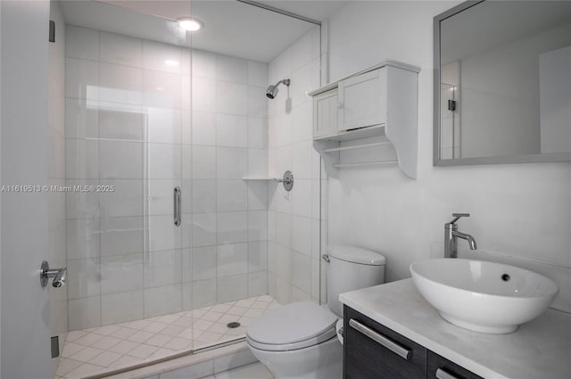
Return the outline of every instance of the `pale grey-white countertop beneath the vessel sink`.
{"type": "Polygon", "coordinates": [[[339,300],[486,379],[571,379],[571,314],[548,309],[512,334],[482,334],[445,321],[411,279],[339,300]]]}

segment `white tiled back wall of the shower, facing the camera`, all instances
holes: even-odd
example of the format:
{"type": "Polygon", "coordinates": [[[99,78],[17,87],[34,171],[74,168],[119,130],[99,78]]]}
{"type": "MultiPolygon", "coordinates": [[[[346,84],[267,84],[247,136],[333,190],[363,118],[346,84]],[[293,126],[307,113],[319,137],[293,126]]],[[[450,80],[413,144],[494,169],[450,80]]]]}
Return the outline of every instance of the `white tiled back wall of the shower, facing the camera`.
{"type": "Polygon", "coordinates": [[[67,194],[70,330],[267,293],[268,65],[66,37],[67,184],[116,188],[67,194]]]}

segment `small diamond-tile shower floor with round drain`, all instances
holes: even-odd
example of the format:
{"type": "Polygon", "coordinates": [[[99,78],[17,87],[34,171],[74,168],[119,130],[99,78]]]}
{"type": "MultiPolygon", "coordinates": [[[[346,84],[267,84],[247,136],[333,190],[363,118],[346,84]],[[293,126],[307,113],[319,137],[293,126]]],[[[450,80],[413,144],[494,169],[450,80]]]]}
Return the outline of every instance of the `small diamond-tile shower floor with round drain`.
{"type": "Polygon", "coordinates": [[[244,337],[279,303],[269,295],[68,333],[56,378],[83,378],[244,337]],[[240,326],[228,328],[230,322],[240,326]]]}

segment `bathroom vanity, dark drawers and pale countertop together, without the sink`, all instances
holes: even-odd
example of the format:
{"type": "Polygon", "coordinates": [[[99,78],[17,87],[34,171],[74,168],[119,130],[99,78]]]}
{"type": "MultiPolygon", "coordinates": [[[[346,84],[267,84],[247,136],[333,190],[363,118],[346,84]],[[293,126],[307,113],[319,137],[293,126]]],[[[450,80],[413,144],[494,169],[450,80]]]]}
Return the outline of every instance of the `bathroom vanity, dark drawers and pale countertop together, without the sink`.
{"type": "Polygon", "coordinates": [[[548,309],[512,334],[451,325],[411,279],[340,295],[343,377],[562,379],[571,377],[571,315],[548,309]]]}

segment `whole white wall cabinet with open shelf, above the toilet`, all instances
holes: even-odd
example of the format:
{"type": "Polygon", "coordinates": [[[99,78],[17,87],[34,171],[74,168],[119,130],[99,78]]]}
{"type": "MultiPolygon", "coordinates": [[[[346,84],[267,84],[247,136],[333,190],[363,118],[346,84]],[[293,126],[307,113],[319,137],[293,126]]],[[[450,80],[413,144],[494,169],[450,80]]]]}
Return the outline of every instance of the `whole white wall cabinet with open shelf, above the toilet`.
{"type": "Polygon", "coordinates": [[[397,164],[417,177],[419,71],[385,61],[310,93],[314,146],[330,166],[397,164]]]}

